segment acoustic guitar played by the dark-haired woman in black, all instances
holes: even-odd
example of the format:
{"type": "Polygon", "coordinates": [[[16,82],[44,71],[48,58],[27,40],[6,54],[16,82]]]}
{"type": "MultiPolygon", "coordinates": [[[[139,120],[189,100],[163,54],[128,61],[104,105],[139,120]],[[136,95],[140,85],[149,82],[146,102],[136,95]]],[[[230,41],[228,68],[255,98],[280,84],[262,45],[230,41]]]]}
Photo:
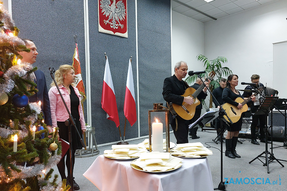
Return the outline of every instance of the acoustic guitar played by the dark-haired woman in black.
{"type": "MultiPolygon", "coordinates": [[[[263,89],[263,87],[259,88],[258,91],[261,92],[262,89],[263,89]]],[[[258,93],[255,92],[253,95],[256,96],[257,94],[258,93]]],[[[232,123],[236,123],[240,119],[241,114],[248,110],[247,103],[251,100],[251,97],[252,96],[250,96],[246,100],[242,99],[241,97],[238,97],[234,100],[235,102],[242,104],[243,107],[241,109],[238,109],[235,105],[232,105],[230,103],[224,103],[222,105],[222,108],[226,111],[226,114],[231,119],[232,123]]],[[[227,122],[229,122],[226,115],[224,115],[223,117],[227,122]]]]}

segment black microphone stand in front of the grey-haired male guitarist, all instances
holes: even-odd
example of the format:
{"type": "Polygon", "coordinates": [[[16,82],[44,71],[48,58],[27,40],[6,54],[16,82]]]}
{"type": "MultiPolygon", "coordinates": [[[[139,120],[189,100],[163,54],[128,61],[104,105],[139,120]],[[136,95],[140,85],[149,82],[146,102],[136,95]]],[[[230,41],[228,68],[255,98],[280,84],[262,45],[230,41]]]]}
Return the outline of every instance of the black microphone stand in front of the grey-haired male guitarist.
{"type": "MultiPolygon", "coordinates": [[[[222,140],[223,138],[223,115],[226,115],[226,117],[228,118],[229,122],[231,124],[233,124],[233,122],[231,121],[231,119],[228,117],[228,115],[226,114],[225,110],[221,107],[221,105],[219,104],[219,102],[217,101],[217,99],[214,97],[214,95],[212,94],[212,92],[210,91],[210,89],[206,86],[206,84],[204,83],[202,77],[197,74],[197,77],[200,78],[200,80],[202,81],[202,83],[204,84],[204,86],[207,88],[207,90],[210,92],[210,94],[212,95],[212,99],[214,99],[216,101],[216,103],[219,105],[219,116],[220,116],[220,138],[222,140]]],[[[223,191],[227,191],[225,189],[225,185],[224,185],[224,182],[223,182],[223,157],[222,157],[222,153],[223,153],[223,141],[220,141],[220,183],[218,184],[218,188],[214,188],[214,190],[223,190],[223,191]]],[[[228,182],[226,182],[228,183],[228,182]]]]}

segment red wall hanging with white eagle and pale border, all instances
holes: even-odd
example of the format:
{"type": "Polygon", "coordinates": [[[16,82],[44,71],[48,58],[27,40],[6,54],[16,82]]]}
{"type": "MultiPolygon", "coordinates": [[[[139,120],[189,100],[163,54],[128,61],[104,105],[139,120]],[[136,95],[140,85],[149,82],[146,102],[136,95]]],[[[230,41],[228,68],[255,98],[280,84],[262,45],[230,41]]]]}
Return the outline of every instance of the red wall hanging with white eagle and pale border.
{"type": "Polygon", "coordinates": [[[127,0],[98,0],[98,18],[99,32],[127,38],[127,0]]]}

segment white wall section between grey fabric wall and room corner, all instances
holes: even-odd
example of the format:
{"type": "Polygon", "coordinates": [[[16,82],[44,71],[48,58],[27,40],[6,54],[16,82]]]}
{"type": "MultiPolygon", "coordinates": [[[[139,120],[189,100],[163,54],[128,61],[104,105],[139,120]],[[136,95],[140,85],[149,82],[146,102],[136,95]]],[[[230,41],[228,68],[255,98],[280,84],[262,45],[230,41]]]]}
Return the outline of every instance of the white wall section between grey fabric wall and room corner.
{"type": "Polygon", "coordinates": [[[183,60],[188,69],[203,70],[203,63],[196,56],[203,54],[203,23],[172,11],[171,74],[174,65],[183,60]]]}

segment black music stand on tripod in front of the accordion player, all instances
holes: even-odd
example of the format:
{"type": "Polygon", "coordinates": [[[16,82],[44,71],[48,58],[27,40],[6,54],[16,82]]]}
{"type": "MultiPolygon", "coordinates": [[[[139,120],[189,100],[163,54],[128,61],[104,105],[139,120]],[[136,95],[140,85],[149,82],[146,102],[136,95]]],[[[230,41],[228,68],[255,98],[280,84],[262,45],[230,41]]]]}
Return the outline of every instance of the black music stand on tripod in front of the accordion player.
{"type": "Polygon", "coordinates": [[[263,166],[267,166],[267,173],[269,174],[269,163],[272,162],[273,160],[276,160],[282,167],[284,167],[284,165],[278,160],[276,159],[276,157],[274,156],[273,153],[270,153],[268,151],[268,128],[267,128],[267,115],[270,112],[270,110],[273,108],[273,105],[275,104],[276,100],[278,99],[278,97],[273,97],[273,96],[266,96],[264,101],[261,103],[261,105],[259,106],[259,108],[257,109],[257,111],[255,112],[254,115],[263,115],[265,114],[265,151],[263,151],[260,155],[258,155],[257,157],[255,157],[253,160],[251,160],[249,162],[249,164],[251,164],[251,162],[255,161],[256,159],[258,159],[260,162],[263,163],[263,166]],[[264,155],[265,156],[262,156],[264,155]],[[272,160],[269,161],[268,159],[268,155],[270,155],[270,158],[272,158],[272,160]],[[265,158],[265,163],[263,161],[260,160],[259,157],[263,157],[265,158]]]}

